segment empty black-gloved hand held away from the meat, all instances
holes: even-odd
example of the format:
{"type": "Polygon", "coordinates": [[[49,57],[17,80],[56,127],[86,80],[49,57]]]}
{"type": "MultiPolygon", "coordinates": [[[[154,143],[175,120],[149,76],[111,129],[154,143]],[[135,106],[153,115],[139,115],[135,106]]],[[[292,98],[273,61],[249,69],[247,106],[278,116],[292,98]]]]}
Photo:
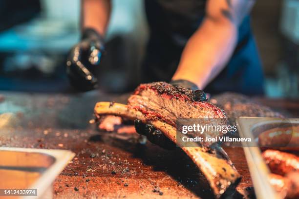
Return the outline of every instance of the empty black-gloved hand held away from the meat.
{"type": "Polygon", "coordinates": [[[81,41],[70,50],[66,61],[66,73],[74,87],[81,91],[97,87],[94,75],[104,50],[101,35],[91,28],[85,29],[81,41]]]}

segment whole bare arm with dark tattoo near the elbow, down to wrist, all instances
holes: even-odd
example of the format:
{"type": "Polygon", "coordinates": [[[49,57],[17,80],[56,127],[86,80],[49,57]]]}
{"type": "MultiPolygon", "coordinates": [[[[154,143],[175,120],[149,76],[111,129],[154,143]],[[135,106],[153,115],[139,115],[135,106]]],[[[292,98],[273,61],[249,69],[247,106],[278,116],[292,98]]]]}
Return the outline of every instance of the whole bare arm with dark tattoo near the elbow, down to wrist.
{"type": "Polygon", "coordinates": [[[238,25],[254,0],[208,0],[206,16],[188,40],[172,80],[189,80],[203,89],[225,67],[237,41],[238,25]]]}

